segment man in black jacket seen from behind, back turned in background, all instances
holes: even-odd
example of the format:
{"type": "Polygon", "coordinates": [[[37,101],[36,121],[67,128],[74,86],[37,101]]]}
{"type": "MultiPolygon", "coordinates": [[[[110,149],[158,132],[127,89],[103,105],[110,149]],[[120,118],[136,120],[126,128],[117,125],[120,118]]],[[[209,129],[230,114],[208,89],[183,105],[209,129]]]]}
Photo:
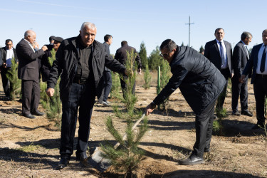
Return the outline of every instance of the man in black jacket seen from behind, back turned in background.
{"type": "MultiPolygon", "coordinates": [[[[135,61],[137,61],[137,72],[141,73],[141,68],[142,68],[141,58],[139,54],[137,53],[136,49],[133,48],[132,46],[128,46],[127,41],[122,41],[121,45],[122,47],[117,49],[114,58],[117,59],[117,61],[119,61],[123,65],[125,65],[127,61],[127,53],[130,53],[133,50],[134,53],[137,54],[135,58],[135,61]]],[[[127,75],[123,75],[123,78],[126,79],[127,75]]],[[[120,79],[120,85],[122,86],[123,98],[125,98],[125,90],[127,88],[125,81],[120,79]]],[[[132,94],[135,94],[135,84],[132,86],[132,94]]]]}

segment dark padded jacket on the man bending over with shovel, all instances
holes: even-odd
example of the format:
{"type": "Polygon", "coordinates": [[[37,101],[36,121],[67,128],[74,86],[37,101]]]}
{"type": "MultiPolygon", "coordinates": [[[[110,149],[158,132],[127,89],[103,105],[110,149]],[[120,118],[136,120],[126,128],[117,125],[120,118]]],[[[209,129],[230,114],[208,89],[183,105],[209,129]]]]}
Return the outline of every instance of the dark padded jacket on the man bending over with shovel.
{"type": "Polygon", "coordinates": [[[165,100],[178,87],[192,110],[199,115],[218,98],[226,85],[221,72],[207,58],[187,46],[178,47],[169,64],[172,78],[153,101],[156,105],[165,100]]]}

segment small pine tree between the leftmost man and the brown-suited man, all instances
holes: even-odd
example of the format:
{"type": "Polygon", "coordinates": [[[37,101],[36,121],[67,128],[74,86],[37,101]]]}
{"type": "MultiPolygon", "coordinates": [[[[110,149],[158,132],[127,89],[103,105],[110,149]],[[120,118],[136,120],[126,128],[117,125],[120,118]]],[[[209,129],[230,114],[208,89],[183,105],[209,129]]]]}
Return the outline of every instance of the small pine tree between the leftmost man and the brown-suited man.
{"type": "Polygon", "coordinates": [[[18,66],[15,58],[11,59],[11,68],[7,70],[6,78],[9,79],[10,83],[10,98],[11,100],[16,100],[16,96],[21,92],[21,80],[18,78],[18,66]]]}

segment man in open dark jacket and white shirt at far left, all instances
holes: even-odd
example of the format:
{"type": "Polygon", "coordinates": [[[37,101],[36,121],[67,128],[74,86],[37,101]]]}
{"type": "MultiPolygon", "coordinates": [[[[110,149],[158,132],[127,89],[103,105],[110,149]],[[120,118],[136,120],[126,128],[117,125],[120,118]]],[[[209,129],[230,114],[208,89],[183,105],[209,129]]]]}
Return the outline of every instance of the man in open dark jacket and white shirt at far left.
{"type": "Polygon", "coordinates": [[[18,58],[16,57],[16,50],[13,48],[13,41],[11,39],[7,39],[6,46],[1,48],[1,58],[3,60],[3,64],[1,65],[0,70],[4,93],[6,95],[6,100],[11,100],[10,91],[12,90],[12,83],[9,81],[9,78],[6,77],[6,73],[8,73],[11,68],[12,58],[15,58],[16,62],[18,61],[18,58]]]}

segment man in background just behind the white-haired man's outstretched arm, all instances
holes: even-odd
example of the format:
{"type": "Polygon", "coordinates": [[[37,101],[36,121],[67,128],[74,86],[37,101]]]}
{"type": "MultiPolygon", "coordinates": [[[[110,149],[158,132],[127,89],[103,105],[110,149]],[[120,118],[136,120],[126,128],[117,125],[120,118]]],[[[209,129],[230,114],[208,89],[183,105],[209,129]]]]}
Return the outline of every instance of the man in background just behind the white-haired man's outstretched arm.
{"type": "MultiPolygon", "coordinates": [[[[110,55],[110,45],[112,43],[112,36],[111,35],[105,35],[104,36],[104,46],[105,51],[108,55],[110,55]]],[[[110,94],[111,86],[112,86],[112,77],[110,73],[110,69],[107,67],[104,68],[104,88],[101,93],[101,96],[98,98],[98,103],[103,104],[105,106],[110,106],[110,102],[108,101],[108,95],[110,94]]]]}

